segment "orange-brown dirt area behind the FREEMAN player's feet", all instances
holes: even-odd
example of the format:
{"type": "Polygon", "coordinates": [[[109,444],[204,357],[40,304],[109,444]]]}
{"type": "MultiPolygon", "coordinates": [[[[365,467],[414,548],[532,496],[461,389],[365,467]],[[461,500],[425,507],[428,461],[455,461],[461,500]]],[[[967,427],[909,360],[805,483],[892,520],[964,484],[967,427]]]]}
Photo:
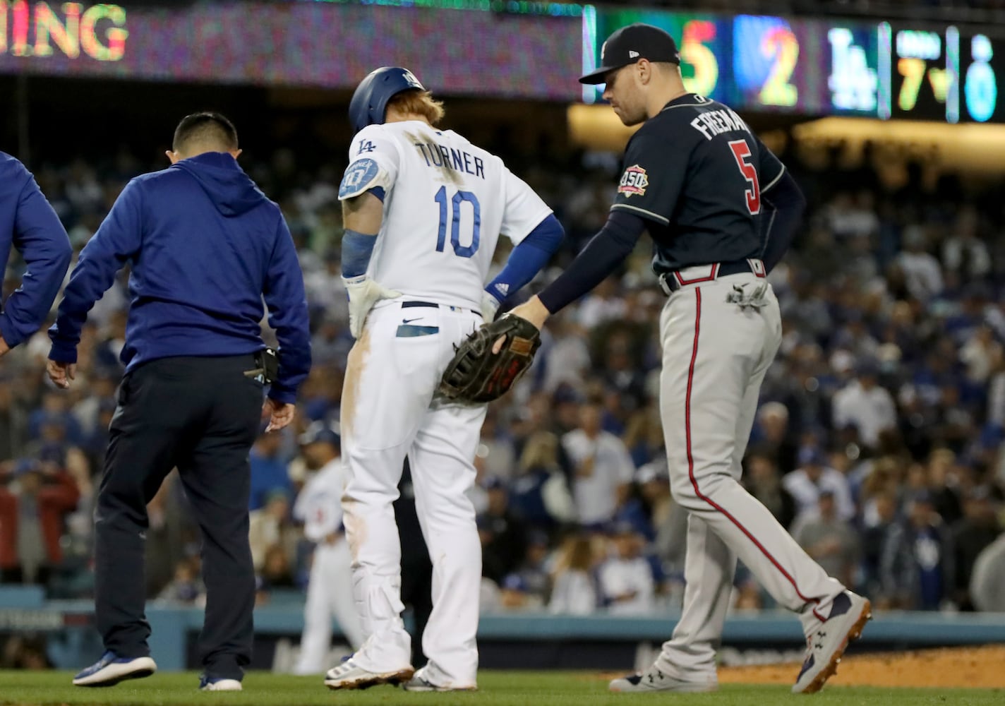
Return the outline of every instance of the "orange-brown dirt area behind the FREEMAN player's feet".
{"type": "MultiPolygon", "coordinates": [[[[791,684],[796,665],[722,667],[720,684],[791,684]]],[[[846,657],[828,684],[1005,688],[1005,645],[846,657]]]]}

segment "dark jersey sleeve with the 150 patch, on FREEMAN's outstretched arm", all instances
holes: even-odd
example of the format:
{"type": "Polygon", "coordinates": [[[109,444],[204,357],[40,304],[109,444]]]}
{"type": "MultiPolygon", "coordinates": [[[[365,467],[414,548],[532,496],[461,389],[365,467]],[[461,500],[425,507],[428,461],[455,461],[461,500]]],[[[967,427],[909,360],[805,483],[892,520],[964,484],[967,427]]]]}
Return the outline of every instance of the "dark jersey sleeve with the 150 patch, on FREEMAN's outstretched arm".
{"type": "Polygon", "coordinates": [[[674,135],[640,130],[625,148],[612,209],[667,225],[683,188],[691,146],[674,135]]]}

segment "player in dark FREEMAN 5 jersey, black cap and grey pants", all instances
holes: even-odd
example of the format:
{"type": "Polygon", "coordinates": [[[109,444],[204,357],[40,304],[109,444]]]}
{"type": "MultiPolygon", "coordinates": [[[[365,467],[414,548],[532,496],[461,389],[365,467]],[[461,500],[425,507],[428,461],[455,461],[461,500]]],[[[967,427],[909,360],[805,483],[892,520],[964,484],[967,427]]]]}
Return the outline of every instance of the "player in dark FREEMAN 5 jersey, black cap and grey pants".
{"type": "Polygon", "coordinates": [[[688,513],[683,612],[656,662],[611,691],[717,688],[716,646],[740,558],[781,605],[799,613],[806,659],[793,691],[823,686],[869,601],[828,576],[739,483],[758,392],[781,341],[765,279],[787,249],[805,201],[785,167],[727,106],[688,93],[673,39],[645,24],[608,38],[601,66],[625,125],[618,193],[603,229],[553,284],[513,313],[537,326],[653,240],[660,315],[660,416],[676,501],[688,513]]]}

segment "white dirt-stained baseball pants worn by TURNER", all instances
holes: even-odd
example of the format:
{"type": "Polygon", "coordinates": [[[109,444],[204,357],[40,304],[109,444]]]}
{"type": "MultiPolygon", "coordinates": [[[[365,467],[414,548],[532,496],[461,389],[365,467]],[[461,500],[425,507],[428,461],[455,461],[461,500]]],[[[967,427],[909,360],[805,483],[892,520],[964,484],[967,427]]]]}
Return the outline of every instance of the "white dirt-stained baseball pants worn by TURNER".
{"type": "Polygon", "coordinates": [[[481,324],[467,309],[379,304],[349,354],[342,398],[343,496],[357,610],[366,641],[355,661],[385,672],[411,662],[401,621],[401,544],[392,503],[407,455],[433,564],[422,641],[429,678],[476,684],[481,544],[467,492],[485,405],[441,404],[434,392],[459,343],[481,324]]]}

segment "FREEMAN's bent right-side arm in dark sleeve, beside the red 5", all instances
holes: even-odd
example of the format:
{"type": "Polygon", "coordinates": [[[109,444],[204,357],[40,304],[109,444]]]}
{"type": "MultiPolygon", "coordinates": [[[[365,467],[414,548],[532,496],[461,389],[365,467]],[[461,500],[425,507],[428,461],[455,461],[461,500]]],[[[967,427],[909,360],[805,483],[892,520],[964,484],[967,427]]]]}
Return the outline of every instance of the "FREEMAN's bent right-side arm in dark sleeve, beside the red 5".
{"type": "Polygon", "coordinates": [[[758,175],[764,184],[761,187],[761,237],[764,242],[761,259],[770,273],[792,244],[806,208],[806,198],[778,157],[760,140],[757,146],[760,155],[758,175]]]}

